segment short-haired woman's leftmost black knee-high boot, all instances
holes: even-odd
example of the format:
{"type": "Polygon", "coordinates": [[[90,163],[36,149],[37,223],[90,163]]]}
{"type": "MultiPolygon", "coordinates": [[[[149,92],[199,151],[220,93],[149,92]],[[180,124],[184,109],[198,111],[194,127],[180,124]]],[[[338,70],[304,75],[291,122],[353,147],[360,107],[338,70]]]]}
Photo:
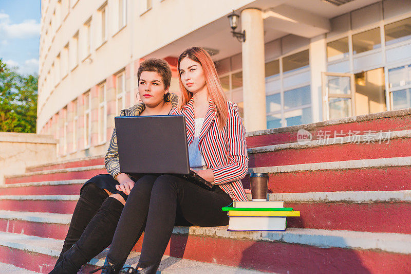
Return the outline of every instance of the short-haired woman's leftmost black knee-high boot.
{"type": "Polygon", "coordinates": [[[55,265],[63,260],[63,254],[80,239],[84,229],[87,227],[92,217],[96,215],[107,197],[107,192],[105,192],[104,189],[97,187],[92,182],[89,182],[82,188],[80,198],[76,208],[74,208],[73,216],[71,217],[70,227],[68,228],[63,248],[55,265]]]}

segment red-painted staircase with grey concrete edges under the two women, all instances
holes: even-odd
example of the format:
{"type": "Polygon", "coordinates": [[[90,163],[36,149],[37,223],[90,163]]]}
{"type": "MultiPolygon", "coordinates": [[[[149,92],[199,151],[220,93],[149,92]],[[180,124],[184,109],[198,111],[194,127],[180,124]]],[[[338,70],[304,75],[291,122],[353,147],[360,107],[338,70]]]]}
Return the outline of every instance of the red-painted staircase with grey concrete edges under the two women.
{"type": "MultiPolygon", "coordinates": [[[[161,273],[411,273],[411,109],[252,132],[247,144],[249,172],[270,173],[270,200],[301,217],[285,232],[175,227],[161,273]]],[[[94,157],[6,177],[0,263],[48,273],[82,184],[100,173],[94,157]]]]}

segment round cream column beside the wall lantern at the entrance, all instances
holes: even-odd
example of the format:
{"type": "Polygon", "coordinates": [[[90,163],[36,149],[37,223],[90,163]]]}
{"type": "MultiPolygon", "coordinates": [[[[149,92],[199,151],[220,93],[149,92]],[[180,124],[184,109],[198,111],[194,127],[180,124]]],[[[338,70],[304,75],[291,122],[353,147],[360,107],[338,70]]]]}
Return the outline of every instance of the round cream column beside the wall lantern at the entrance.
{"type": "Polygon", "coordinates": [[[241,27],[246,31],[246,42],[242,43],[242,97],[247,132],[267,129],[262,15],[254,8],[241,11],[241,27]]]}

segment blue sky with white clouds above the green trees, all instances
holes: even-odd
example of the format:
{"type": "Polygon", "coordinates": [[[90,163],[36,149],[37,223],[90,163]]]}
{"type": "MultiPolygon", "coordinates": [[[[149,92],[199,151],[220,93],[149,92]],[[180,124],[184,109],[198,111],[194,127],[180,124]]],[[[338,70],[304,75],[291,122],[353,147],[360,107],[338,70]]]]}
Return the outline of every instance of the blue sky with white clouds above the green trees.
{"type": "Polygon", "coordinates": [[[41,0],[0,0],[0,58],[21,74],[39,71],[41,0]]]}

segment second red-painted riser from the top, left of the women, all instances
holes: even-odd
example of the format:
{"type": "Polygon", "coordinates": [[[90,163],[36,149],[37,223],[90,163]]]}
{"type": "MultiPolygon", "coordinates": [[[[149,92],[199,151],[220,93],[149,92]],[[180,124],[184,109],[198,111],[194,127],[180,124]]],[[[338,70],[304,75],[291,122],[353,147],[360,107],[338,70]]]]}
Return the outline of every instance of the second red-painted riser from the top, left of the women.
{"type": "MultiPolygon", "coordinates": [[[[63,170],[64,171],[64,170],[63,170]]],[[[83,171],[69,171],[62,172],[62,170],[57,170],[54,173],[47,174],[33,174],[33,175],[22,175],[18,177],[5,177],[6,184],[15,184],[18,182],[39,182],[39,181],[62,181],[62,180],[73,180],[73,179],[89,179],[98,174],[107,174],[105,168],[101,169],[91,169],[83,171]]]]}

